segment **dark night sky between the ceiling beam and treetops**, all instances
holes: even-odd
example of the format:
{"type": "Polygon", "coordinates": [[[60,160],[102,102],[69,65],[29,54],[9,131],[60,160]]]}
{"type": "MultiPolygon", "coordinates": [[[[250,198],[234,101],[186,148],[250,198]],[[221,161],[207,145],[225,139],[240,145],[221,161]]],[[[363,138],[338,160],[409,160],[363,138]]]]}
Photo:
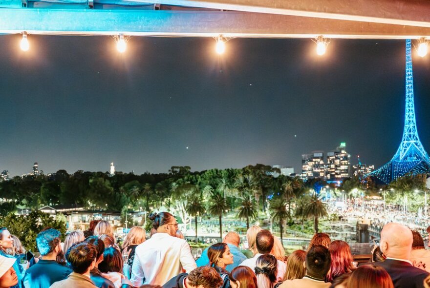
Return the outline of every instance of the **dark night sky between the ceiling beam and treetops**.
{"type": "MultiPolygon", "coordinates": [[[[294,166],[346,142],[382,165],[400,144],[405,42],[0,36],[0,170],[141,174],[257,163],[294,166]],[[295,137],[297,135],[297,137],[295,137]],[[188,149],[187,149],[188,147],[188,149]]],[[[413,51],[415,53],[415,51],[413,51]]],[[[418,131],[430,152],[430,56],[414,55],[418,131]]]]}

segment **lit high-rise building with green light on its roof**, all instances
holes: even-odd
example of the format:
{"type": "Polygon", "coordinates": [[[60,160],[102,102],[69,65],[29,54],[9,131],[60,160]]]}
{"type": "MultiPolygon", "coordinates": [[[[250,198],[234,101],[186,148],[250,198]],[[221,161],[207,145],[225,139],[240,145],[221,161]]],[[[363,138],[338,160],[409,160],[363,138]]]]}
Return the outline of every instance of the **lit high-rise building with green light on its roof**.
{"type": "Polygon", "coordinates": [[[349,155],[346,152],[346,143],[342,142],[335,151],[327,153],[327,169],[325,176],[327,179],[342,179],[350,177],[349,155]]]}

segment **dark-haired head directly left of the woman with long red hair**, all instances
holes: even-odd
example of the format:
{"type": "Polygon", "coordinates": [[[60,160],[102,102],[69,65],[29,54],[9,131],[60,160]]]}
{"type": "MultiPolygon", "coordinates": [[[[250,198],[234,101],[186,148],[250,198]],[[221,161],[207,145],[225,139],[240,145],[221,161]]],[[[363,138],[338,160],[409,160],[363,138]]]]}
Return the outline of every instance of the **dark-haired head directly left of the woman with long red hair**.
{"type": "Polygon", "coordinates": [[[306,274],[324,279],[330,269],[331,259],[328,249],[321,245],[312,246],[306,253],[306,274]]]}

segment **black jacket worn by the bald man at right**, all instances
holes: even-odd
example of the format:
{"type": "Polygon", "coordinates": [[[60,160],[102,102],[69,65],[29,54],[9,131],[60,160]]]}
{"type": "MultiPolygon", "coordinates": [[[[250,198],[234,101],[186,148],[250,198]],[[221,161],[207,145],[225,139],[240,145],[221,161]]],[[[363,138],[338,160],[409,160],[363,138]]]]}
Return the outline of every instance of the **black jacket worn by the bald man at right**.
{"type": "Polygon", "coordinates": [[[393,280],[394,288],[423,288],[424,279],[429,275],[426,271],[413,267],[405,261],[386,259],[384,262],[374,264],[387,270],[393,280]]]}

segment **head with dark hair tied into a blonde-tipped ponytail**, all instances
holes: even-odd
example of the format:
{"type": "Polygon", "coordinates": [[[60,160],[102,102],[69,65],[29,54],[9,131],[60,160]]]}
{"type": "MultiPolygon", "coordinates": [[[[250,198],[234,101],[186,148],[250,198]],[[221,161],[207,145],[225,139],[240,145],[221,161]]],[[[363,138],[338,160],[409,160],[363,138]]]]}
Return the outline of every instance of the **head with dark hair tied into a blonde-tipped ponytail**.
{"type": "Polygon", "coordinates": [[[258,257],[255,267],[258,288],[272,288],[276,282],[278,260],[270,254],[258,257]]]}

